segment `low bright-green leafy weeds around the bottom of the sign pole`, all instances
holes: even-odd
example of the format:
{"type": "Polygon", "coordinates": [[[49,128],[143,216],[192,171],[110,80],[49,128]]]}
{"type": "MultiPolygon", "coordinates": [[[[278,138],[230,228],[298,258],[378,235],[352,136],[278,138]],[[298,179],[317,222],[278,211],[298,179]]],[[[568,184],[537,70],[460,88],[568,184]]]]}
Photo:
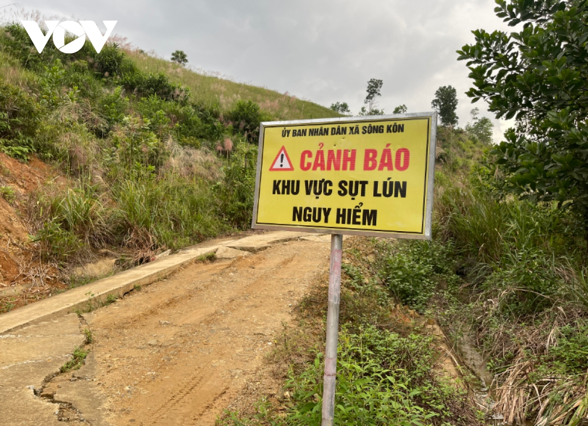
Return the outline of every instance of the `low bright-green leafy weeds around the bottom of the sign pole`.
{"type": "MultiPolygon", "coordinates": [[[[480,424],[465,407],[467,391],[439,377],[431,365],[432,337],[400,337],[369,326],[340,333],[335,405],[340,425],[480,424]]],[[[287,424],[320,425],[322,354],[302,374],[292,371],[286,387],[294,406],[287,424]]]]}

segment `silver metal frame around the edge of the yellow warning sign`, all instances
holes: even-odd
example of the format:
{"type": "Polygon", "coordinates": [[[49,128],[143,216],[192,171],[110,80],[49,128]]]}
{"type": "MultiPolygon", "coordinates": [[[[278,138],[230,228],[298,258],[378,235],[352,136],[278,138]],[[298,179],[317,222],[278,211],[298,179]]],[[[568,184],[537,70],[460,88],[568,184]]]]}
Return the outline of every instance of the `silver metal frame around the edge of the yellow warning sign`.
{"type": "Polygon", "coordinates": [[[376,237],[393,237],[402,239],[415,239],[415,240],[430,240],[431,239],[431,227],[432,227],[432,212],[433,212],[433,183],[435,179],[435,148],[436,148],[436,136],[437,136],[437,113],[436,112],[420,112],[420,113],[406,113],[406,114],[390,114],[390,115],[370,115],[370,116],[354,116],[354,117],[342,117],[342,118],[323,118],[323,119],[311,119],[311,120],[287,120],[287,121],[274,121],[274,122],[262,122],[259,127],[259,149],[258,149],[258,162],[257,171],[255,175],[255,199],[253,202],[253,217],[251,227],[254,229],[269,229],[269,230],[282,230],[282,231],[299,231],[299,232],[314,232],[314,233],[333,233],[333,234],[346,234],[346,235],[362,235],[362,236],[376,236],[376,237]],[[262,173],[262,156],[263,156],[263,132],[266,127],[279,127],[279,126],[293,126],[293,125],[324,125],[333,124],[337,125],[340,123],[359,123],[359,122],[375,122],[381,120],[390,119],[407,119],[407,118],[430,118],[429,126],[429,141],[428,141],[428,160],[426,166],[427,173],[427,193],[424,208],[424,229],[423,234],[410,234],[404,232],[372,232],[369,230],[348,230],[338,228],[315,228],[312,226],[295,226],[295,225],[271,225],[271,224],[259,224],[256,223],[256,217],[258,215],[258,202],[259,202],[259,187],[260,177],[262,173]]]}

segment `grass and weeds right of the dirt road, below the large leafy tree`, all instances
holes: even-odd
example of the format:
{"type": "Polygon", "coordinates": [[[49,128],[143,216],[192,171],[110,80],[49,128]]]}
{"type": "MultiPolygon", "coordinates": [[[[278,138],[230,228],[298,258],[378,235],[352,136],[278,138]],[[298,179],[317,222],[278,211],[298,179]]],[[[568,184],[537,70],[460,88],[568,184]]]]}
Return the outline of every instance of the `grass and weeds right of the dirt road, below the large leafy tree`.
{"type": "MultiPolygon", "coordinates": [[[[496,414],[578,424],[588,406],[583,218],[505,193],[494,148],[476,135],[441,126],[437,142],[433,240],[344,244],[337,424],[473,425],[496,414]],[[456,354],[485,358],[486,407],[473,400],[475,366],[458,377],[441,367],[432,320],[456,354]]],[[[302,302],[299,327],[269,358],[288,365],[286,392],[219,424],[320,424],[326,294],[323,284],[302,302]]]]}

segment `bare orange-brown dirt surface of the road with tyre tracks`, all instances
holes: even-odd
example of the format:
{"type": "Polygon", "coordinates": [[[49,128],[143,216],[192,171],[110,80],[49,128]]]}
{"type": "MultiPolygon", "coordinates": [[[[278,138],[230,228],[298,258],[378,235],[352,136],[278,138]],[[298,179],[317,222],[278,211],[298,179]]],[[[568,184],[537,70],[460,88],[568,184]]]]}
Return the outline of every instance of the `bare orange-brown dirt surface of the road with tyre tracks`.
{"type": "Polygon", "coordinates": [[[85,314],[93,335],[86,365],[44,393],[71,401],[92,424],[213,425],[258,384],[264,355],[292,306],[324,276],[328,255],[328,236],[278,243],[192,264],[85,314]]]}

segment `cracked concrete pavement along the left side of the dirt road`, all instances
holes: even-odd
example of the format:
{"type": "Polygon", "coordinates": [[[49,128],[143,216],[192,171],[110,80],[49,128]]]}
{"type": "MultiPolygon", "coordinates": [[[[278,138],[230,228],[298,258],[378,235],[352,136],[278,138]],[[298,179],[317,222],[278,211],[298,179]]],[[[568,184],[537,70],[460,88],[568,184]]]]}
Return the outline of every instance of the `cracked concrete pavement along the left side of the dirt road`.
{"type": "MultiPolygon", "coordinates": [[[[106,287],[111,293],[106,291],[101,295],[104,298],[106,294],[122,296],[133,289],[132,279],[143,285],[158,281],[178,267],[198,259],[203,249],[206,253],[218,251],[219,259],[234,259],[258,253],[278,241],[293,239],[324,244],[330,236],[270,232],[216,243],[209,241],[198,250],[184,250],[149,264],[149,273],[142,271],[137,275],[135,269],[133,275],[125,271],[80,288],[83,294],[92,293],[93,289],[105,288],[102,281],[108,281],[106,287]],[[162,270],[167,271],[166,274],[162,275],[162,270]]],[[[85,317],[93,316],[92,313],[82,316],[71,313],[72,307],[83,305],[72,296],[68,297],[67,293],[69,291],[39,301],[36,304],[44,305],[38,308],[27,306],[0,315],[0,425],[51,426],[64,421],[70,424],[109,424],[101,411],[104,410],[105,395],[98,386],[100,374],[95,371],[98,365],[93,361],[95,354],[91,351],[86,364],[79,370],[60,373],[62,365],[72,359],[74,348],[85,345],[84,331],[88,328],[85,317]]],[[[81,300],[87,302],[87,296],[81,300]]]]}

